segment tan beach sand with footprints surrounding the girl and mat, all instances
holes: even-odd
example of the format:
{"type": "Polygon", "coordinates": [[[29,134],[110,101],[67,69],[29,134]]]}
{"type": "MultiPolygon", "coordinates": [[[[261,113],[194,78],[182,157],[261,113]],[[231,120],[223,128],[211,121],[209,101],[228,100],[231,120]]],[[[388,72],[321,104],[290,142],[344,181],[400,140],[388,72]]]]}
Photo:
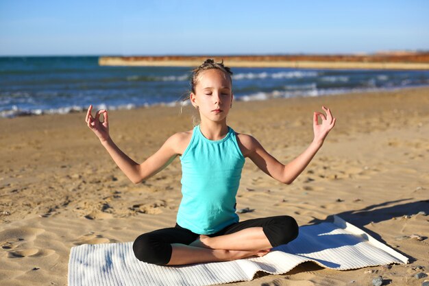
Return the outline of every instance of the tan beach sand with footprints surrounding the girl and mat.
{"type": "MultiPolygon", "coordinates": [[[[228,285],[372,285],[378,275],[385,284],[421,285],[413,275],[429,272],[429,216],[418,214],[429,214],[429,88],[234,102],[228,125],[287,163],[311,142],[312,112],[321,105],[336,126],[293,184],[246,159],[237,208],[254,211],[241,220],[286,214],[303,226],[339,215],[410,264],[340,272],[304,263],[228,285]]],[[[181,115],[166,106],[109,115],[112,139],[139,163],[171,134],[193,128],[190,106],[181,115]]],[[[132,184],[84,117],[0,119],[0,285],[67,285],[71,247],[133,241],[175,224],[179,158],[132,184]]]]}

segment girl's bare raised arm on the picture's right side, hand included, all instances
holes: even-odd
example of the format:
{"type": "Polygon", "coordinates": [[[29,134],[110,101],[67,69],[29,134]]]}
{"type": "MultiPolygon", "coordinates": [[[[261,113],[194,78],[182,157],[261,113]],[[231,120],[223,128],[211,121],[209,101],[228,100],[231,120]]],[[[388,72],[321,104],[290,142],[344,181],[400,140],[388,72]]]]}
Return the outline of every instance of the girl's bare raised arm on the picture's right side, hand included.
{"type": "Polygon", "coordinates": [[[293,159],[287,165],[283,165],[278,160],[276,160],[271,154],[269,154],[265,149],[260,145],[256,139],[252,137],[249,141],[249,158],[266,174],[275,178],[284,184],[291,184],[299,174],[304,171],[308,163],[315,156],[317,151],[323,145],[323,141],[326,139],[326,136],[334,128],[336,119],[332,117],[332,113],[329,108],[323,107],[323,110],[326,111],[326,116],[321,112],[315,112],[313,115],[313,131],[315,138],[313,139],[310,146],[302,152],[297,158],[293,159]],[[321,117],[321,124],[318,123],[318,117],[321,117]]]}

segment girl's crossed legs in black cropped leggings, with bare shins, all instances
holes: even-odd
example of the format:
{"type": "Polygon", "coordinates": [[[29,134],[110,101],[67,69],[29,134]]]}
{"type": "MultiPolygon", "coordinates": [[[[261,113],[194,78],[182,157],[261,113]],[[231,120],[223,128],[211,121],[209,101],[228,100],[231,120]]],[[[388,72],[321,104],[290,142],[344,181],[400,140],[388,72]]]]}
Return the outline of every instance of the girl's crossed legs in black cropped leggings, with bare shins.
{"type": "Polygon", "coordinates": [[[140,235],[133,244],[140,261],[157,265],[186,265],[264,256],[272,247],[297,237],[298,226],[289,216],[249,219],[214,235],[197,235],[176,226],[140,235]]]}

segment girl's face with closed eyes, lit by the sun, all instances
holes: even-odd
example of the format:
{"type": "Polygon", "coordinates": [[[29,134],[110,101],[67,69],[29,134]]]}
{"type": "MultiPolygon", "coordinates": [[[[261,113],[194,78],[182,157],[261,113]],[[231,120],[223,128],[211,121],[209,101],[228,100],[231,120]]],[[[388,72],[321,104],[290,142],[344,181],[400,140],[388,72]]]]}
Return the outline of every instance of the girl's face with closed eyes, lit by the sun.
{"type": "Polygon", "coordinates": [[[208,69],[199,75],[191,103],[198,106],[201,120],[221,121],[228,115],[233,97],[228,76],[219,69],[208,69]]]}

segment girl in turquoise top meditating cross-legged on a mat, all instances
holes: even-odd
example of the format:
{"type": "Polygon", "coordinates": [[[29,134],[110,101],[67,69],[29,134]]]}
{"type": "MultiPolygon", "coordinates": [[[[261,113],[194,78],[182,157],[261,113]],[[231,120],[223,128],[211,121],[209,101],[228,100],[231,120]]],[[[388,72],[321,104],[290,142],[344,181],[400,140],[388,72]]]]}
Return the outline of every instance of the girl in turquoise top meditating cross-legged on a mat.
{"type": "Polygon", "coordinates": [[[93,106],[88,108],[88,127],[132,182],[137,184],[154,176],[176,156],[181,160],[183,198],[177,223],[173,228],[137,237],[133,250],[140,261],[185,265],[263,256],[298,235],[295,219],[287,215],[238,222],[235,197],[241,170],[248,157],[275,180],[291,184],[315,156],[335,119],[328,108],[322,107],[326,116],[315,112],[314,140],[302,154],[283,165],[253,136],[234,132],[227,125],[226,117],[234,98],[231,75],[228,67],[213,60],[193,69],[188,98],[199,111],[201,123],[192,130],[170,136],[160,150],[141,164],[113,143],[107,110],[99,110],[93,117],[93,106]],[[103,122],[99,121],[101,114],[103,122]]]}

